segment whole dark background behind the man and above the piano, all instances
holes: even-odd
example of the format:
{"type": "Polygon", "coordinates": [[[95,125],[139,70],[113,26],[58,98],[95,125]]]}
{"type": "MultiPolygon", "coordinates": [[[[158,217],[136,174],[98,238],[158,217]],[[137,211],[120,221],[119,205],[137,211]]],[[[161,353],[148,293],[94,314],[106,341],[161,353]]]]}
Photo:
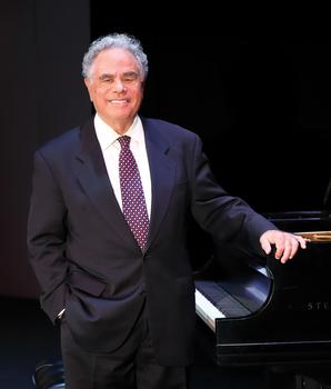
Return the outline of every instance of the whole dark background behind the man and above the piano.
{"type": "Polygon", "coordinates": [[[203,6],[194,16],[159,6],[151,17],[138,4],[96,0],[2,1],[0,295],[38,296],[26,249],[33,151],[91,114],[81,59],[109,32],[134,34],[149,57],[141,113],[199,133],[227,190],[261,212],[323,207],[331,176],[323,10],[298,22],[203,6]]]}

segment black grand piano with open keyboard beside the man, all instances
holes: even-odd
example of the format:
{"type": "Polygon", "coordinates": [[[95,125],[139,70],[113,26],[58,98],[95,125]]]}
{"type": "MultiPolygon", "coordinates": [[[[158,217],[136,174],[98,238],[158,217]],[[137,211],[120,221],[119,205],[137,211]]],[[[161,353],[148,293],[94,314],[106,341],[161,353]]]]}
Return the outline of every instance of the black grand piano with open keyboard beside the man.
{"type": "Polygon", "coordinates": [[[197,271],[197,339],[217,366],[277,371],[274,388],[308,389],[308,382],[329,388],[330,186],[323,210],[265,213],[279,228],[308,240],[308,248],[285,265],[273,252],[259,258],[221,247],[197,271]]]}

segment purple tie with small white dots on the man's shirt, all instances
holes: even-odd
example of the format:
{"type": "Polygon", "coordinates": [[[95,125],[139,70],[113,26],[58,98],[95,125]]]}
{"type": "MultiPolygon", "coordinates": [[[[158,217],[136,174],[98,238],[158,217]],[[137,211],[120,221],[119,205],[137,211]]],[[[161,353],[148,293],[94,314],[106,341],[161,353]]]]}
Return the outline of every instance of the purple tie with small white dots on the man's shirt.
{"type": "Polygon", "coordinates": [[[130,150],[128,136],[118,138],[121,144],[119,172],[124,218],[138,241],[144,249],[149,230],[149,218],[136,159],[130,150]]]}

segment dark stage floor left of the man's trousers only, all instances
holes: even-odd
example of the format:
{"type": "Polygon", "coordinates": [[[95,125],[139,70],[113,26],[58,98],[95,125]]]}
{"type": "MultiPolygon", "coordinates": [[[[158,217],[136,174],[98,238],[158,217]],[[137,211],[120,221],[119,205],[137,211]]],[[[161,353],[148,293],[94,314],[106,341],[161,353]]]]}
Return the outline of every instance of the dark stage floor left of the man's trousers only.
{"type": "Polygon", "coordinates": [[[0,297],[0,389],[33,389],[34,367],[60,358],[59,333],[36,300],[0,297]]]}

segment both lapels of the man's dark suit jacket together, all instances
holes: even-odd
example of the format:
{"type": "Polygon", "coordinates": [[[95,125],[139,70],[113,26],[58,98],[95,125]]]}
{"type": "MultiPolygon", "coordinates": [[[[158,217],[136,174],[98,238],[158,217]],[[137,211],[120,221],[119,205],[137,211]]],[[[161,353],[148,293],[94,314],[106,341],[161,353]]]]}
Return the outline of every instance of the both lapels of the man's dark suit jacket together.
{"type": "MultiPolygon", "coordinates": [[[[157,236],[169,205],[174,184],[175,164],[167,156],[170,146],[162,138],[158,127],[144,119],[142,124],[152,183],[149,247],[157,236]]],[[[76,159],[77,178],[97,212],[124,240],[136,242],[112,190],[92,121],[81,129],[81,143],[76,159]]]]}

